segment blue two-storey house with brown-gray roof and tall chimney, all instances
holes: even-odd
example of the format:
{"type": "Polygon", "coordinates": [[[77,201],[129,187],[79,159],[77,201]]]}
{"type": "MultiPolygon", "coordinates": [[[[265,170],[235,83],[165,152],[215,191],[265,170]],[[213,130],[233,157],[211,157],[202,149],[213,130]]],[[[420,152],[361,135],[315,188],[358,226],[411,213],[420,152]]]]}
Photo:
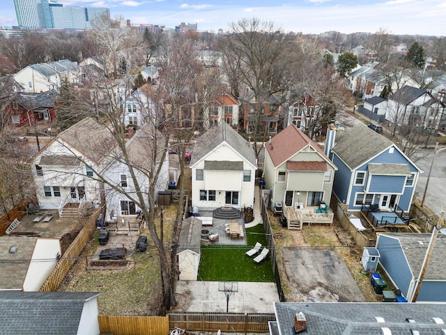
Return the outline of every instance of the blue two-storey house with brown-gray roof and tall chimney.
{"type": "Polygon", "coordinates": [[[329,126],[325,154],[338,170],[333,192],[348,211],[408,211],[422,170],[383,135],[358,124],[336,133],[329,126]]]}

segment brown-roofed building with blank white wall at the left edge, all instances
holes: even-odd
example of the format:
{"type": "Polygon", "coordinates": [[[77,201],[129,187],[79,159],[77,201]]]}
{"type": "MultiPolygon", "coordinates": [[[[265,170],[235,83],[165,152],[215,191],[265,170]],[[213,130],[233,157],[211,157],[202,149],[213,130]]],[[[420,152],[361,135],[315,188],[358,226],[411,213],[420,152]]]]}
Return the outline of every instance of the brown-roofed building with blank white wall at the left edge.
{"type": "Polygon", "coordinates": [[[0,291],[36,292],[61,255],[60,239],[28,236],[0,237],[0,291]]]}

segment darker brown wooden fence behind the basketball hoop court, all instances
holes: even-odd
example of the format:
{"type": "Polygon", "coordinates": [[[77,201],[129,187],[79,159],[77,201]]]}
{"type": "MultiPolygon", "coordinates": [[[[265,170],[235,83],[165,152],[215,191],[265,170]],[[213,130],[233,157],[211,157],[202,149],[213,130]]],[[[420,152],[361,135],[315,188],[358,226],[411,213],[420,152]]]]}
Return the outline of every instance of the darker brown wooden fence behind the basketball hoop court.
{"type": "MultiPolygon", "coordinates": [[[[169,328],[187,329],[192,332],[244,332],[265,333],[268,321],[275,321],[273,313],[169,313],[169,328]]],[[[152,333],[150,333],[152,334],[152,333]]]]}

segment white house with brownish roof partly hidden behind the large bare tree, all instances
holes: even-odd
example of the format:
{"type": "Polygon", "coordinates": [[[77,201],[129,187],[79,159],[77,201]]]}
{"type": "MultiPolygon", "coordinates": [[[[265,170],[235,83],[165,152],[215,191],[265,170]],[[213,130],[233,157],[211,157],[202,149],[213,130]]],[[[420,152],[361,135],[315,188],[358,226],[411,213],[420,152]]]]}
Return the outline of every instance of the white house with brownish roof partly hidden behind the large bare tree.
{"type": "MultiPolygon", "coordinates": [[[[165,154],[163,158],[165,147],[165,137],[155,128],[149,126],[139,129],[126,144],[128,159],[137,177],[137,186],[143,192],[145,202],[150,195],[148,193],[149,186],[155,186],[155,197],[159,191],[164,191],[169,186],[169,155],[165,154]],[[153,164],[154,157],[155,164],[153,164]],[[160,167],[158,178],[150,179],[149,176],[152,173],[155,174],[158,167],[160,167]]],[[[107,179],[104,186],[107,202],[106,218],[137,214],[139,210],[137,187],[131,177],[129,165],[125,163],[123,157],[116,156],[116,159],[110,163],[103,174],[107,179]],[[129,196],[124,193],[128,193],[129,196]]]]}

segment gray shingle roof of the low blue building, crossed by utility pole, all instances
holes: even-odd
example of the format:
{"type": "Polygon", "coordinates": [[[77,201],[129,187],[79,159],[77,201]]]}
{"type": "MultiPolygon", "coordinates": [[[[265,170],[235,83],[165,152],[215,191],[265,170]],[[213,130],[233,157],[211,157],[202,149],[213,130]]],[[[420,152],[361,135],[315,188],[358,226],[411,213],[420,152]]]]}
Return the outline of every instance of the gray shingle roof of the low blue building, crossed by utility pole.
{"type": "MultiPolygon", "coordinates": [[[[385,237],[391,237],[398,239],[401,244],[401,250],[405,253],[408,265],[412,270],[415,277],[420,274],[422,264],[424,261],[424,256],[426,255],[427,248],[429,247],[429,240],[431,239],[431,234],[412,234],[412,233],[379,233],[385,237]],[[420,243],[420,241],[422,243],[420,243]]],[[[431,258],[429,260],[429,265],[424,274],[424,280],[446,280],[446,236],[443,237],[438,234],[435,246],[433,247],[433,252],[431,253],[431,258]]],[[[446,320],[445,320],[446,322],[446,320]]]]}

